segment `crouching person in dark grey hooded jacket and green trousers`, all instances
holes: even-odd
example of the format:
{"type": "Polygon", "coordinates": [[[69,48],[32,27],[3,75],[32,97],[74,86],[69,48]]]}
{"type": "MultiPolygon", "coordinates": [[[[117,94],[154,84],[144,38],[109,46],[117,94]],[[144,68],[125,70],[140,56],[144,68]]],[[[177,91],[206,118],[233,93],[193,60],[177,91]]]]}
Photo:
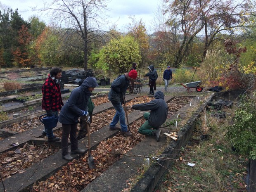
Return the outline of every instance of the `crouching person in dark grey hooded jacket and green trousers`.
{"type": "Polygon", "coordinates": [[[154,94],[154,100],[141,103],[134,104],[131,109],[140,110],[140,111],[148,111],[143,117],[147,120],[145,123],[139,128],[139,133],[142,135],[154,135],[156,137],[156,141],[160,141],[161,130],[159,126],[161,126],[167,119],[168,106],[164,101],[164,93],[161,91],[157,91],[154,94]]]}

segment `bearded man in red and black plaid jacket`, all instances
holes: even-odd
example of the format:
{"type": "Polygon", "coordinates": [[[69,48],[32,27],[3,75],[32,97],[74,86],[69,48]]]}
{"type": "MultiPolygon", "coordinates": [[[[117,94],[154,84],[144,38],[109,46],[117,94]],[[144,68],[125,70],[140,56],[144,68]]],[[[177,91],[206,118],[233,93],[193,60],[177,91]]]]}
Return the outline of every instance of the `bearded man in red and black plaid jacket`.
{"type": "MultiPolygon", "coordinates": [[[[60,78],[62,76],[62,69],[59,67],[54,67],[51,69],[48,78],[42,86],[43,100],[42,100],[42,109],[45,109],[47,116],[59,116],[59,111],[64,105],[62,102],[62,96],[60,91],[60,78]]],[[[56,137],[52,128],[46,128],[42,135],[47,135],[49,142],[59,141],[60,138],[56,137]]]]}

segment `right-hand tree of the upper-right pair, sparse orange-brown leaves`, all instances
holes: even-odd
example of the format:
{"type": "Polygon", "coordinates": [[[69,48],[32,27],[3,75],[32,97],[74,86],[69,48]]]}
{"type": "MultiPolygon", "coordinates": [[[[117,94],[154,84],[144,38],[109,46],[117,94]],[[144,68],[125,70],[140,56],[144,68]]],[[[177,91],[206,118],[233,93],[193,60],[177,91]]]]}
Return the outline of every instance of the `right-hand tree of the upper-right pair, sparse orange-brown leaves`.
{"type": "Polygon", "coordinates": [[[204,21],[205,57],[216,35],[222,31],[234,34],[248,21],[249,6],[247,0],[198,0],[201,18],[204,21]],[[207,6],[204,6],[206,4],[207,6]]]}

